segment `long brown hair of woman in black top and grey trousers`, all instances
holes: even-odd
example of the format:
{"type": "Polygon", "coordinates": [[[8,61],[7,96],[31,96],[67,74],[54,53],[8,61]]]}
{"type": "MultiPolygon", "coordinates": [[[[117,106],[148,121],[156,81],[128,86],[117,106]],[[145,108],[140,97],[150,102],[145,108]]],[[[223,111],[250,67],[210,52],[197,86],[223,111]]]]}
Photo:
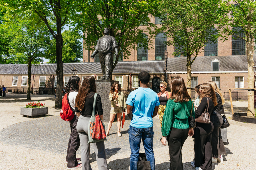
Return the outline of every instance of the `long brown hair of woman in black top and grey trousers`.
{"type": "Polygon", "coordinates": [[[82,111],[84,109],[85,98],[90,92],[96,93],[95,78],[86,76],[76,96],[76,107],[78,110],[82,111]]]}

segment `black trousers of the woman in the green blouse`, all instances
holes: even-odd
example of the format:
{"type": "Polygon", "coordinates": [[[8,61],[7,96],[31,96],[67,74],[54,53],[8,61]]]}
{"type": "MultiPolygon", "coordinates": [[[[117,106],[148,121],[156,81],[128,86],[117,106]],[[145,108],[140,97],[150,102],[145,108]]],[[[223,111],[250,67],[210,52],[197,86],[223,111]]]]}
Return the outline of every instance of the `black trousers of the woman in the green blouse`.
{"type": "Polygon", "coordinates": [[[170,170],[183,170],[181,149],[187,138],[188,129],[171,128],[171,132],[167,136],[171,161],[170,170]]]}

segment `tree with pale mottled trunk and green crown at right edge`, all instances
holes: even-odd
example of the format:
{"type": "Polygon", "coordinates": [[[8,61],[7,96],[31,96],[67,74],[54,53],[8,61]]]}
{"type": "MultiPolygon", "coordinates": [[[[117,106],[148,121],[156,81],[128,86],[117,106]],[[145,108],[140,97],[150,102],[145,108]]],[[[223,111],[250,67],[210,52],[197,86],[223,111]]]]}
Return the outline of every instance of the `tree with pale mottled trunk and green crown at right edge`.
{"type": "MultiPolygon", "coordinates": [[[[214,1],[213,1],[214,2],[214,1]]],[[[219,8],[212,13],[216,23],[222,28],[220,33],[227,40],[227,36],[240,38],[246,42],[246,53],[248,63],[248,88],[254,88],[253,72],[253,41],[256,34],[256,1],[255,0],[234,0],[220,1],[219,8]],[[244,32],[245,34],[240,34],[244,32]]],[[[247,117],[255,118],[254,91],[248,91],[247,117]]]]}

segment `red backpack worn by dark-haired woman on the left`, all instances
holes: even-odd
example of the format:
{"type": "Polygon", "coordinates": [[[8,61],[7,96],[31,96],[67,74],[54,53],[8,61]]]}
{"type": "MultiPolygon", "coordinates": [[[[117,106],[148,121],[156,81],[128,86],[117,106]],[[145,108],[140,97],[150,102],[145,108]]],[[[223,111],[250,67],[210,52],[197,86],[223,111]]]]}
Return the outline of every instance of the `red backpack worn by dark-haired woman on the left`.
{"type": "Polygon", "coordinates": [[[64,121],[71,121],[75,116],[75,111],[70,107],[70,103],[68,101],[68,95],[70,92],[74,92],[74,90],[70,90],[62,99],[60,117],[64,121]]]}

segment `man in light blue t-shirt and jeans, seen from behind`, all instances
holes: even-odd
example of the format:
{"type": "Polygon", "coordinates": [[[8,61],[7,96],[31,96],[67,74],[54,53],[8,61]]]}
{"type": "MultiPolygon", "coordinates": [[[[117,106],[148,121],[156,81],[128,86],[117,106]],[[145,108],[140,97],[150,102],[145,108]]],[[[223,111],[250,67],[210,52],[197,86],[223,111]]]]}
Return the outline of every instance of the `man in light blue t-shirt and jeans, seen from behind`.
{"type": "Polygon", "coordinates": [[[147,161],[151,170],[155,169],[155,155],[153,151],[153,117],[156,116],[160,105],[157,94],[148,88],[149,74],[145,71],[138,76],[139,88],[131,92],[127,98],[127,116],[131,123],[129,127],[129,141],[131,148],[130,169],[137,169],[140,142],[144,145],[147,161]]]}

